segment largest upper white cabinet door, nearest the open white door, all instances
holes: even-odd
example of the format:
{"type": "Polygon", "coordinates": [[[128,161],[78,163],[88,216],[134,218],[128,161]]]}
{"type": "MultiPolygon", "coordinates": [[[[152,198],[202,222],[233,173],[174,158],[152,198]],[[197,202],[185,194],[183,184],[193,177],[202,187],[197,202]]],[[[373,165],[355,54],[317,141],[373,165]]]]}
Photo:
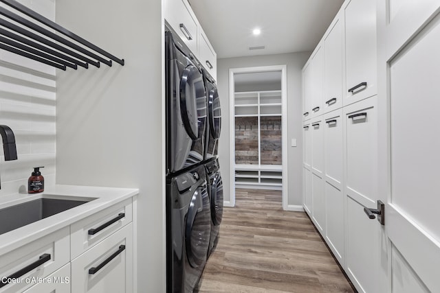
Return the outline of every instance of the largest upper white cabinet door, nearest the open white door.
{"type": "Polygon", "coordinates": [[[348,105],[377,93],[376,1],[351,0],[344,11],[348,105]]]}

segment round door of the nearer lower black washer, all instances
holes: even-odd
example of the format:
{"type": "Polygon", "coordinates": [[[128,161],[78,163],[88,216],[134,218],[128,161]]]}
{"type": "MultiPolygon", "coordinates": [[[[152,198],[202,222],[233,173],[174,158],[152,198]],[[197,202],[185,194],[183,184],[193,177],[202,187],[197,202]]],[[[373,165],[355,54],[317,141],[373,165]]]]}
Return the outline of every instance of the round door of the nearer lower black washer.
{"type": "Polygon", "coordinates": [[[211,234],[210,203],[206,187],[198,187],[192,195],[186,218],[186,257],[192,268],[206,261],[211,234]]]}

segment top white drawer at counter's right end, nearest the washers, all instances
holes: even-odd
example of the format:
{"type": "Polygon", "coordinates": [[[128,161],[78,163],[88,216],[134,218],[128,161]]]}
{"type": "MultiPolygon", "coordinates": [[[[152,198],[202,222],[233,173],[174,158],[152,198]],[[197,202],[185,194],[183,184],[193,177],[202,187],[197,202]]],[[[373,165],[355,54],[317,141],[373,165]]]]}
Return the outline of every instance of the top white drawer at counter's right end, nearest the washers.
{"type": "Polygon", "coordinates": [[[72,224],[71,258],[78,257],[132,220],[132,200],[129,198],[72,224]]]}

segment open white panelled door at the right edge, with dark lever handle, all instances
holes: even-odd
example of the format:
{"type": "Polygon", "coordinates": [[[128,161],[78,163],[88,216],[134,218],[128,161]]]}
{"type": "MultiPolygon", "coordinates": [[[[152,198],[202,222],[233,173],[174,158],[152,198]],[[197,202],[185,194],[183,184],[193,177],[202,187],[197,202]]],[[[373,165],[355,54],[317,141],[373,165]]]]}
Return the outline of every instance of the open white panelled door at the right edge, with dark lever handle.
{"type": "Polygon", "coordinates": [[[440,1],[377,5],[382,274],[388,292],[440,292],[440,1]]]}

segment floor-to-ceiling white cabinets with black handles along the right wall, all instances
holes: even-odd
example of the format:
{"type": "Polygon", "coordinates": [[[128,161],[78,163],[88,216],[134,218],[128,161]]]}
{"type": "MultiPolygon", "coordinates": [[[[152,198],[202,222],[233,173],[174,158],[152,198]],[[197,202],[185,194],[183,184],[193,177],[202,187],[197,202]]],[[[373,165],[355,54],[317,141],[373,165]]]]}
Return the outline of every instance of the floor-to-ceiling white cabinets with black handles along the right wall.
{"type": "Polygon", "coordinates": [[[375,1],[347,0],[303,70],[305,211],[359,292],[384,292],[380,223],[364,213],[377,200],[376,44],[375,1]]]}

